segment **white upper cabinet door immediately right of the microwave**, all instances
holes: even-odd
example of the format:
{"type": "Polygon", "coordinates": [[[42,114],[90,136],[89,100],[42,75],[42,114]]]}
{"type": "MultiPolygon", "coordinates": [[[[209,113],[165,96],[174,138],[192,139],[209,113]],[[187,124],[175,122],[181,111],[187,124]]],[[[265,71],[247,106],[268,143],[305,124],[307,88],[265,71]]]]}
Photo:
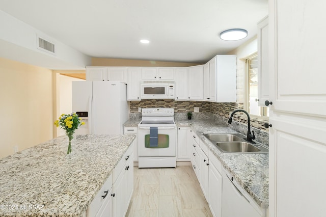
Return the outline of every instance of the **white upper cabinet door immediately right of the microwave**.
{"type": "Polygon", "coordinates": [[[176,96],[175,100],[188,100],[187,68],[176,68],[176,96]]]}

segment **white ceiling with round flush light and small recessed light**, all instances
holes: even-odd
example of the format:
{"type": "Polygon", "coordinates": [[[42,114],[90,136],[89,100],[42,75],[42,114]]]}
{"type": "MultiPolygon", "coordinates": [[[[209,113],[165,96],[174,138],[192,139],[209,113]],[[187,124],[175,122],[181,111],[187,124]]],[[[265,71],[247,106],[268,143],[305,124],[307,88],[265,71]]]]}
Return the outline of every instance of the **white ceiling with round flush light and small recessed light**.
{"type": "Polygon", "coordinates": [[[254,37],[268,0],[0,0],[0,10],[91,57],[204,63],[254,37]],[[249,35],[221,40],[231,28],[249,35]]]}

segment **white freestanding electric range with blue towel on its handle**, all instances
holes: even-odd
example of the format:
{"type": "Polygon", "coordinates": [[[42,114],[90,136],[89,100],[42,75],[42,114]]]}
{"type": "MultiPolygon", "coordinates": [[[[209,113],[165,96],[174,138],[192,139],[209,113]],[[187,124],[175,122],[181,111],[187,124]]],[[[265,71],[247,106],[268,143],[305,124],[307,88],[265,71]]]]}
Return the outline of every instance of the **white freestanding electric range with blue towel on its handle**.
{"type": "Polygon", "coordinates": [[[173,108],[143,108],[138,125],[138,167],[176,167],[176,144],[173,108]]]}

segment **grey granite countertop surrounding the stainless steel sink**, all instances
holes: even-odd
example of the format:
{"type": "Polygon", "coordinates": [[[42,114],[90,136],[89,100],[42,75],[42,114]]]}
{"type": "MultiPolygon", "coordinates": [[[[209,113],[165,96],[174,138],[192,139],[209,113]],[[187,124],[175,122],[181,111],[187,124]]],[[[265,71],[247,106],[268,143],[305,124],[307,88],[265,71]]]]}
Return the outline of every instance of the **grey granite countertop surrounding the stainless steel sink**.
{"type": "Polygon", "coordinates": [[[236,131],[210,120],[175,120],[175,122],[177,126],[191,126],[240,186],[261,208],[268,208],[268,154],[225,154],[202,133],[237,133],[236,131]]]}

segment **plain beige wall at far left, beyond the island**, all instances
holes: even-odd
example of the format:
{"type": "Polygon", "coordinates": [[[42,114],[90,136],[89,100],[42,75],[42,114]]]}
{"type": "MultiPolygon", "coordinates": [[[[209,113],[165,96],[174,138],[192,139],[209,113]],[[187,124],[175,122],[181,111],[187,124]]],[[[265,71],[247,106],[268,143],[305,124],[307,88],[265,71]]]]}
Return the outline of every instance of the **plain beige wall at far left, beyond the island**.
{"type": "Polygon", "coordinates": [[[0,58],[0,158],[53,138],[52,71],[0,58]]]}

